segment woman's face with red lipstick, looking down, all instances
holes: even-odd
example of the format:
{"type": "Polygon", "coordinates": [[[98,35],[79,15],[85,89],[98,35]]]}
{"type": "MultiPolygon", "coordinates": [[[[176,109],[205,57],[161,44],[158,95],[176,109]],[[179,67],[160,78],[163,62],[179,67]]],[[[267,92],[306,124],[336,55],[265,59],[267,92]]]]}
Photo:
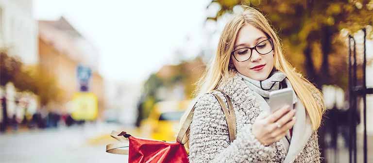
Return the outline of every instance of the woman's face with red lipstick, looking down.
{"type": "MultiPolygon", "coordinates": [[[[233,49],[233,51],[237,49],[245,48],[245,47],[253,48],[255,45],[257,45],[258,43],[266,39],[268,38],[265,33],[263,33],[262,31],[260,31],[259,29],[257,29],[251,24],[245,24],[237,33],[237,38],[235,41],[235,48],[233,49]]],[[[271,46],[271,45],[268,45],[268,43],[269,41],[262,42],[256,47],[256,49],[260,51],[260,48],[264,46],[271,46]]],[[[231,59],[233,60],[233,64],[235,65],[239,73],[251,79],[257,80],[257,81],[263,81],[268,78],[273,68],[273,54],[274,54],[273,50],[263,55],[263,54],[259,54],[255,49],[253,49],[251,53],[251,57],[245,62],[238,62],[235,59],[235,56],[237,56],[236,58],[239,60],[239,57],[241,57],[239,55],[244,54],[245,51],[241,50],[240,53],[237,53],[237,51],[236,51],[236,54],[232,54],[231,59]],[[254,68],[255,66],[258,66],[258,65],[264,65],[264,66],[259,67],[259,68],[254,68]]],[[[247,51],[250,53],[250,49],[247,49],[247,51]]],[[[263,51],[261,51],[261,53],[263,53],[263,51]]]]}

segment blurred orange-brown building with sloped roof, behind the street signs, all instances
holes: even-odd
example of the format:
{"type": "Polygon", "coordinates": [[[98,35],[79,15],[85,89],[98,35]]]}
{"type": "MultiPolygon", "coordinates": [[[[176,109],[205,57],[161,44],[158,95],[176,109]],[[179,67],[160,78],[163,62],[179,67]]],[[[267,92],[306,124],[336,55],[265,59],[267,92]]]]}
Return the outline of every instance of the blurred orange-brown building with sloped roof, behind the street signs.
{"type": "Polygon", "coordinates": [[[62,112],[68,112],[70,109],[68,103],[80,90],[77,67],[85,65],[92,70],[88,91],[97,96],[100,118],[105,106],[104,85],[103,78],[97,71],[99,54],[92,50],[94,46],[64,17],[55,21],[39,21],[38,26],[39,65],[55,77],[58,87],[64,93],[57,107],[62,112]]]}

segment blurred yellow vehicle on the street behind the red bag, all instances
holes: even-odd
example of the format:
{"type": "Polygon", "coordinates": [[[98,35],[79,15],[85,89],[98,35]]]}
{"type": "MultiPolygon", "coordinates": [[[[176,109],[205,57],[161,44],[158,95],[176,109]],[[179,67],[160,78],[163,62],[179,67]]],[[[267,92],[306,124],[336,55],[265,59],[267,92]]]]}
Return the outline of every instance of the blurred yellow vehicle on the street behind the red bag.
{"type": "Polygon", "coordinates": [[[145,130],[151,131],[148,137],[156,140],[174,141],[179,130],[179,121],[190,100],[161,101],[145,120],[145,130]]]}

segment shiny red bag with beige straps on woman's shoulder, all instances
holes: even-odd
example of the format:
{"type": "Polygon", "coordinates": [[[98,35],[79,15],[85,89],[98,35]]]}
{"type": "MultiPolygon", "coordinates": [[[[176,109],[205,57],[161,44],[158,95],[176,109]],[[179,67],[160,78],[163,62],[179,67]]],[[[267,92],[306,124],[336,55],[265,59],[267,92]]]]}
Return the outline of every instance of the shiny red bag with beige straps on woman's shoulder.
{"type": "MultiPolygon", "coordinates": [[[[228,101],[228,110],[223,100],[219,96],[213,95],[218,99],[221,109],[225,114],[229,138],[233,142],[236,138],[236,117],[232,102],[228,96],[225,96],[228,101]]],[[[112,131],[111,136],[121,143],[106,145],[106,152],[128,154],[129,163],[188,163],[188,155],[184,144],[188,141],[185,135],[192,121],[193,112],[194,106],[188,113],[186,121],[177,135],[176,142],[137,138],[124,131],[121,133],[112,131]]]]}

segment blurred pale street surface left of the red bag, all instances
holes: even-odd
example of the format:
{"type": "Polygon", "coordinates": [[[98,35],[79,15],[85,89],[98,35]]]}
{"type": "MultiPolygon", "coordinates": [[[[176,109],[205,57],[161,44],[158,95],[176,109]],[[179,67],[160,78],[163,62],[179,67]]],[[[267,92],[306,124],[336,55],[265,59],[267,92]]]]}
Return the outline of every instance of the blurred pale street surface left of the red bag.
{"type": "Polygon", "coordinates": [[[126,155],[105,152],[107,135],[119,125],[97,123],[0,135],[0,163],[127,163],[126,155]],[[103,136],[102,136],[103,135],[103,136]]]}

